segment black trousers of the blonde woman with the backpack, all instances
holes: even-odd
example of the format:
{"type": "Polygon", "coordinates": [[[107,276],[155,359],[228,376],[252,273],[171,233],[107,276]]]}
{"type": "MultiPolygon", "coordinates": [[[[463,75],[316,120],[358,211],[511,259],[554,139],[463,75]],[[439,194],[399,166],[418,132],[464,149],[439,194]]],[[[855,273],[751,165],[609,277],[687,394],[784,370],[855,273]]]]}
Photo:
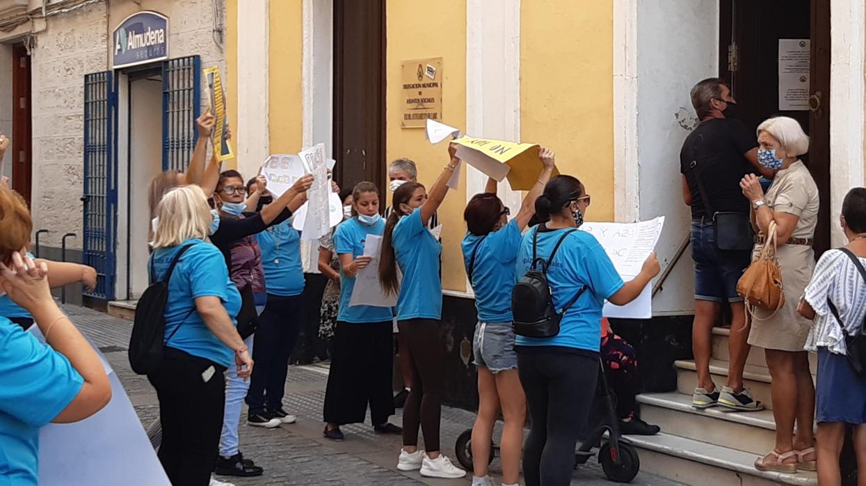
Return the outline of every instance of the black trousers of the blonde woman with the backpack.
{"type": "Polygon", "coordinates": [[[210,483],[223,431],[224,372],[211,360],[166,348],[158,370],[147,375],[159,399],[159,462],[171,484],[210,483]]]}

